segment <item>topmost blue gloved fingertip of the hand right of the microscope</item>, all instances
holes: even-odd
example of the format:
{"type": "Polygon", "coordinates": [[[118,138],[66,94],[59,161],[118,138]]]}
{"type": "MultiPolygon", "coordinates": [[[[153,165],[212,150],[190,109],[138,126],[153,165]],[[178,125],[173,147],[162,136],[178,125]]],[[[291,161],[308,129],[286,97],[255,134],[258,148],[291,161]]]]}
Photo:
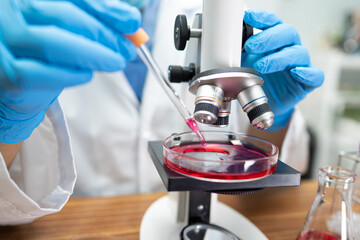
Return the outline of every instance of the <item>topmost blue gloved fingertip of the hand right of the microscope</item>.
{"type": "Polygon", "coordinates": [[[245,11],[244,21],[250,26],[262,30],[282,23],[280,17],[275,13],[260,9],[251,9],[245,11]]]}

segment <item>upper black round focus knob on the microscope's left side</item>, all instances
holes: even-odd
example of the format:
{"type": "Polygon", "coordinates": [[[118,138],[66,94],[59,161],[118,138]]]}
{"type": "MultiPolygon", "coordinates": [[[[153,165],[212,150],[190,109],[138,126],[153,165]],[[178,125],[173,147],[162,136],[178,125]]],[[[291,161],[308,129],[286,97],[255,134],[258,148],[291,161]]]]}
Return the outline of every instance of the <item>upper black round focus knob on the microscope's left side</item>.
{"type": "Polygon", "coordinates": [[[186,42],[190,39],[191,30],[185,15],[178,15],[175,19],[174,42],[177,50],[184,50],[186,42]]]}

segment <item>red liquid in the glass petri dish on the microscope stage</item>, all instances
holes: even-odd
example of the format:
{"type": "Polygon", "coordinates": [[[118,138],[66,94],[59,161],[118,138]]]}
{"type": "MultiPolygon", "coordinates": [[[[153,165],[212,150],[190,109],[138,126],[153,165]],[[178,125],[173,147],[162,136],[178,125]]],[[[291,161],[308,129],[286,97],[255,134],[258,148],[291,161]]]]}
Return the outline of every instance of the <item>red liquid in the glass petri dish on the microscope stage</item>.
{"type": "Polygon", "coordinates": [[[176,154],[167,154],[165,164],[194,178],[245,181],[263,178],[276,169],[276,161],[255,147],[208,142],[206,147],[198,143],[170,149],[176,154]]]}

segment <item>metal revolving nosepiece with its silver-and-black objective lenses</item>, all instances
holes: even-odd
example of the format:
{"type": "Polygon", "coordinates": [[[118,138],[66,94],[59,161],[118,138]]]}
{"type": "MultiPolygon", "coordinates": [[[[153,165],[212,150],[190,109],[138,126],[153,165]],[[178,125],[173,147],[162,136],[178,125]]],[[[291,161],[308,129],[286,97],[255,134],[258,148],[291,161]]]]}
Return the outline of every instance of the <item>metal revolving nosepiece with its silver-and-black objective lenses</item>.
{"type": "Polygon", "coordinates": [[[213,126],[227,126],[230,101],[237,98],[250,123],[258,129],[267,129],[273,124],[274,114],[267,104],[262,84],[259,74],[249,68],[221,68],[199,73],[190,81],[189,87],[196,96],[201,92],[203,99],[202,102],[195,101],[194,118],[213,126]],[[214,97],[211,90],[215,87],[222,89],[221,97],[214,97]]]}

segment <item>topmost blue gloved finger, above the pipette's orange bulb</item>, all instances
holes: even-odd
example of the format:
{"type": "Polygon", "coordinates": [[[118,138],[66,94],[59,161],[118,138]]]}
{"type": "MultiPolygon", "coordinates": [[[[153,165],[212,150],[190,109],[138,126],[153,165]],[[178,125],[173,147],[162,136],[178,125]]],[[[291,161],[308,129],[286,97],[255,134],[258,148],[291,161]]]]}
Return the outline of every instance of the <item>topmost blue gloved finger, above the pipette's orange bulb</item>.
{"type": "Polygon", "coordinates": [[[140,11],[123,1],[71,0],[71,2],[122,34],[134,33],[141,25],[140,11]]]}

